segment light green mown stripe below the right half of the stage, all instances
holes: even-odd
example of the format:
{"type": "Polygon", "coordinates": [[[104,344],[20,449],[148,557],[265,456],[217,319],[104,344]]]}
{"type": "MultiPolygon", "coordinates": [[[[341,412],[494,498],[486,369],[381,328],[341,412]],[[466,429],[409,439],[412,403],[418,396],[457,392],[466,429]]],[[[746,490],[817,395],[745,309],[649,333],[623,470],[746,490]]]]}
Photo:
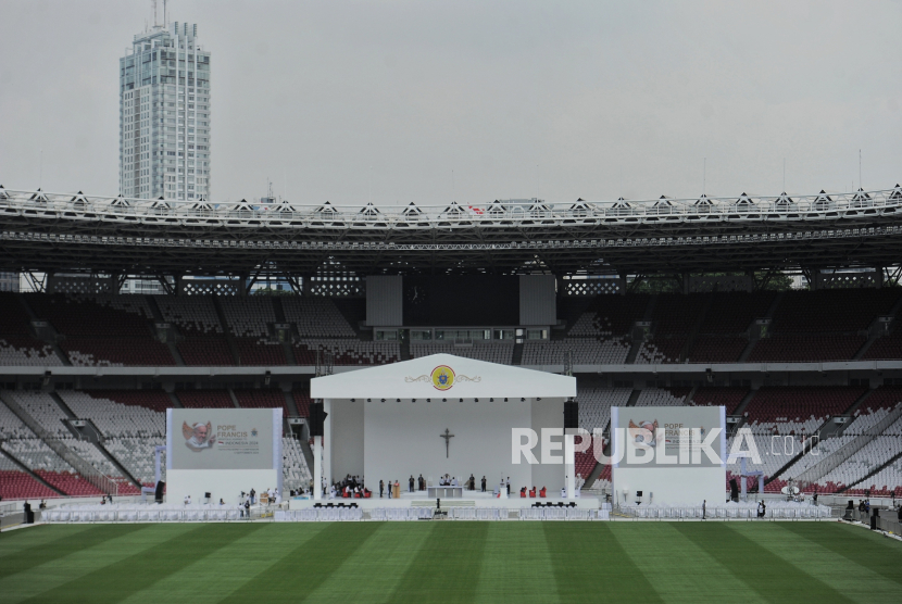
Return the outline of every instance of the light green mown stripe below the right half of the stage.
{"type": "Polygon", "coordinates": [[[475,601],[561,602],[541,523],[488,523],[475,601]]]}

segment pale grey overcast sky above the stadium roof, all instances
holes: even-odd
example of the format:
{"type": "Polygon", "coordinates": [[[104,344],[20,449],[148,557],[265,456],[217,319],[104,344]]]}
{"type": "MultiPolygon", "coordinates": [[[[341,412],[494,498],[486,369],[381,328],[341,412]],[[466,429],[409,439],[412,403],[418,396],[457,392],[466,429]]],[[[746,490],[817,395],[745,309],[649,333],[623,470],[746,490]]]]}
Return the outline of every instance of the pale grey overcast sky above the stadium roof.
{"type": "MultiPolygon", "coordinates": [[[[162,0],[161,0],[162,2],[162,0]]],[[[0,0],[0,184],[118,192],[150,0],[0,0]]],[[[902,180],[902,3],[171,0],[211,51],[212,198],[476,203],[902,180]],[[453,178],[452,178],[453,171],[453,178]]]]}

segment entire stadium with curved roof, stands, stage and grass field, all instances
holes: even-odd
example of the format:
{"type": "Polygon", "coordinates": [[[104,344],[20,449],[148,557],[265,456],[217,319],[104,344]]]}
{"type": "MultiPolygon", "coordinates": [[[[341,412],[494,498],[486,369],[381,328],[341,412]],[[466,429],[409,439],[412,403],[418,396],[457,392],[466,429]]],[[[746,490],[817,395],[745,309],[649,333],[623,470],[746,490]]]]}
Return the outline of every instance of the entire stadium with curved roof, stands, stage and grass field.
{"type": "Polygon", "coordinates": [[[34,289],[0,293],[0,601],[897,602],[901,228],[899,185],[0,187],[0,270],[34,289]],[[719,426],[723,463],[617,455],[667,417],[719,426]],[[512,462],[512,428],[563,455],[512,462]]]}

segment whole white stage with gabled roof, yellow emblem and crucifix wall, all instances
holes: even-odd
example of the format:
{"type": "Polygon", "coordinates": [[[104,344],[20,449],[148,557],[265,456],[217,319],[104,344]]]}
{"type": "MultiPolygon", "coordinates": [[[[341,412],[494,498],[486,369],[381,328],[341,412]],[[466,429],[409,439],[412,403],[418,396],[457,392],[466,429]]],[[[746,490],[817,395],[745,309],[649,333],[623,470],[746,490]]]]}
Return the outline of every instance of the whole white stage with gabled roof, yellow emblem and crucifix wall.
{"type": "Polygon", "coordinates": [[[322,468],[313,473],[317,485],[321,476],[328,483],[363,476],[378,493],[379,480],[397,480],[404,491],[411,475],[438,486],[448,474],[460,482],[473,475],[477,488],[485,476],[487,489],[510,477],[515,495],[521,487],[560,494],[565,476],[574,477],[564,464],[562,433],[564,401],[576,397],[573,377],[435,354],[314,378],[311,397],[328,413],[322,468]],[[558,449],[542,458],[541,432],[549,428],[561,430],[548,438],[558,449]],[[522,455],[515,463],[514,429],[539,433],[533,452],[542,463],[530,465],[522,455]]]}

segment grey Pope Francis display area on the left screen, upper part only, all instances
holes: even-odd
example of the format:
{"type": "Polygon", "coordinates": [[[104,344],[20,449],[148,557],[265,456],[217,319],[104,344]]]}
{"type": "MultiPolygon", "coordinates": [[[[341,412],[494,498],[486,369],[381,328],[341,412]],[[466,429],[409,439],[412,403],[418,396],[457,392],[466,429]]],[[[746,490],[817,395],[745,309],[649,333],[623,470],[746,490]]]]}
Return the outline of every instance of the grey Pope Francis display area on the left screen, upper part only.
{"type": "MultiPolygon", "coordinates": [[[[168,469],[273,469],[273,433],[281,410],[171,408],[168,469]]],[[[277,424],[278,423],[278,424],[277,424]]]]}

